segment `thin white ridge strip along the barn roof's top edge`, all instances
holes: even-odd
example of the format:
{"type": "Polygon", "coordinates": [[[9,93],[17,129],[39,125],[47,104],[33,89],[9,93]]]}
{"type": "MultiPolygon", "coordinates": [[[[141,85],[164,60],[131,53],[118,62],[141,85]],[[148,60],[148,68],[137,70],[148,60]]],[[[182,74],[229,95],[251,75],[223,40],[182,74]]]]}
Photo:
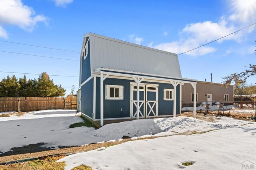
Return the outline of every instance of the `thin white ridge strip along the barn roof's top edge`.
{"type": "Polygon", "coordinates": [[[152,50],[152,51],[157,51],[157,52],[160,52],[160,53],[166,53],[166,54],[169,54],[169,55],[178,56],[176,53],[171,53],[171,52],[168,52],[168,51],[163,51],[163,50],[159,50],[159,49],[154,49],[154,48],[146,47],[146,46],[143,46],[143,45],[138,45],[138,44],[134,44],[134,43],[129,43],[129,42],[126,42],[126,41],[122,41],[122,40],[114,39],[114,38],[110,38],[110,37],[105,37],[105,36],[103,36],[103,35],[98,35],[98,34],[95,34],[95,33],[89,33],[89,34],[87,34],[87,35],[91,35],[91,36],[95,36],[95,37],[107,39],[107,40],[110,40],[110,41],[115,41],[115,42],[118,42],[118,43],[123,43],[123,44],[127,44],[127,45],[132,45],[132,46],[140,47],[140,48],[143,48],[143,49],[148,49],[148,50],[152,50]]]}

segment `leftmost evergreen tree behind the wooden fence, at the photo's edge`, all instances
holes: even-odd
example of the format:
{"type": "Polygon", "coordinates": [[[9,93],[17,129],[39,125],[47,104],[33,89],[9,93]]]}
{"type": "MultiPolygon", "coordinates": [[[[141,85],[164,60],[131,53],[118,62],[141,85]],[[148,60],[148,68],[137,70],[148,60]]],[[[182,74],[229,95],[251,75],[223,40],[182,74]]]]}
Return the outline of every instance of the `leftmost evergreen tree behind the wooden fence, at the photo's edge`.
{"type": "Polygon", "coordinates": [[[3,78],[0,82],[0,97],[18,97],[20,84],[17,82],[17,78],[13,75],[11,78],[3,78]]]}

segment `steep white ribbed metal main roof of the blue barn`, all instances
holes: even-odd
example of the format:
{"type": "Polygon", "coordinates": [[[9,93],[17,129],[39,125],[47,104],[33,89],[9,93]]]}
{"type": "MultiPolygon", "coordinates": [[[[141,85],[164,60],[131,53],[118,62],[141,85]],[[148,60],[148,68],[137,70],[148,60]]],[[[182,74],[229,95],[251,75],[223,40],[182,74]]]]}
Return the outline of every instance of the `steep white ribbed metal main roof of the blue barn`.
{"type": "Polygon", "coordinates": [[[94,33],[84,36],[90,37],[92,73],[102,67],[182,78],[177,54],[94,33]]]}

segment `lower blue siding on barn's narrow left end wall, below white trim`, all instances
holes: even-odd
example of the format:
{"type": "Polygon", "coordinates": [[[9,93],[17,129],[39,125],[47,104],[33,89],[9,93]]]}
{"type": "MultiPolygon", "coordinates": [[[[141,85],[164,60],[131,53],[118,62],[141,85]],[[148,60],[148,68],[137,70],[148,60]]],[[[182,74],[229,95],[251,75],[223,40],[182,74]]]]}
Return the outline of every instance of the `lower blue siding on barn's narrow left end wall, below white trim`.
{"type": "Polygon", "coordinates": [[[92,117],[93,112],[93,81],[92,78],[81,87],[81,112],[92,117]]]}

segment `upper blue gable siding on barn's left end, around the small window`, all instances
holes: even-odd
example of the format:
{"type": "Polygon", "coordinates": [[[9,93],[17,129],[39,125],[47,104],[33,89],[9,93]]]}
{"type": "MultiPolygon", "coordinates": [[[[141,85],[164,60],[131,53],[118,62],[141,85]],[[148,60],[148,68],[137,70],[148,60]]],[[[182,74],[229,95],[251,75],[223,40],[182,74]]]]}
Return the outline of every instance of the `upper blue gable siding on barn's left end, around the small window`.
{"type": "MultiPolygon", "coordinates": [[[[88,37],[87,37],[88,38],[88,37]]],[[[90,40],[86,39],[86,42],[88,41],[88,55],[86,59],[84,59],[84,53],[82,57],[82,82],[87,80],[91,76],[91,61],[90,61],[90,40]]]]}

